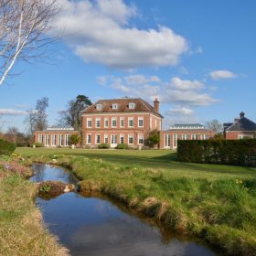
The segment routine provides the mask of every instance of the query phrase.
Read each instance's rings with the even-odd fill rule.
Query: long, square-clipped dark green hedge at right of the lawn
[[[178,141],[181,162],[256,166],[256,139]]]

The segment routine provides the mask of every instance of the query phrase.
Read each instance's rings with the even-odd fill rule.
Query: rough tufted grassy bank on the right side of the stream
[[[50,162],[52,157],[34,160]],[[54,157],[54,162],[69,166],[80,177],[81,190],[101,191],[117,198],[129,208],[161,220],[168,229],[208,240],[229,255],[256,255],[253,174],[235,176],[227,172],[212,178],[205,171],[203,177],[199,176],[199,170],[197,175],[187,175],[164,168],[113,165],[84,156]],[[255,169],[248,172],[255,173]]]

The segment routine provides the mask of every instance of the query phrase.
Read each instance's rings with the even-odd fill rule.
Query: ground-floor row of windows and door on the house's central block
[[[101,134],[96,134],[94,137],[94,142],[95,144],[134,144],[134,135],[128,134],[128,140],[126,142],[124,139],[124,134],[120,134],[119,140],[117,134],[111,134],[110,136],[108,134],[104,134],[103,141],[101,141]],[[92,144],[91,134],[87,134],[86,144]],[[144,134],[138,134],[138,144],[144,144]]]

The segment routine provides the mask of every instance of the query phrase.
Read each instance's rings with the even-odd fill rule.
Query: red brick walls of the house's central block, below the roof
[[[106,119],[108,120],[108,127],[105,125]],[[116,120],[116,127],[112,126],[113,119]],[[123,126],[121,125],[122,120]],[[133,120],[133,126],[130,125],[131,122],[129,121],[131,120]],[[140,127],[139,120],[143,120],[143,127]],[[114,147],[116,144],[123,142],[132,147],[137,147],[144,144],[144,140],[151,130],[157,129],[160,131],[161,125],[161,118],[149,112],[87,113],[82,115],[82,144],[84,146],[96,146],[97,144],[108,143]]]

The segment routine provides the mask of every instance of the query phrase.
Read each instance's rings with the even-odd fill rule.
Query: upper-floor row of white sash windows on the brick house
[[[112,128],[117,128],[117,117],[111,118],[111,123],[109,123],[109,118],[105,117],[103,120],[104,128],[109,128],[110,124]],[[120,118],[120,127],[124,127],[124,117]],[[128,127],[134,127],[134,118],[128,117]],[[138,127],[144,127],[144,118],[138,117]],[[92,128],[92,119],[87,118],[87,128]],[[95,119],[95,128],[101,128],[101,117]]]

